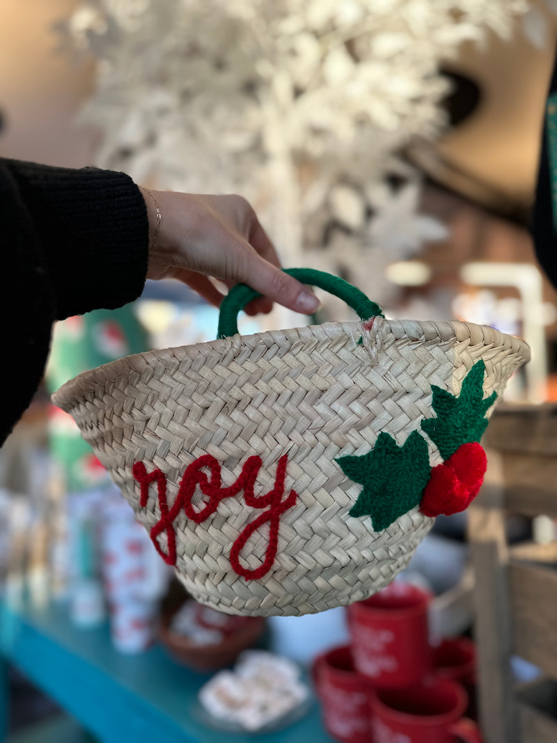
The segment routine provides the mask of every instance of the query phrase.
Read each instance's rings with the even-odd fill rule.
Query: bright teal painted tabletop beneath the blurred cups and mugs
[[[330,743],[319,707],[273,733],[223,733],[201,719],[209,675],[178,666],[160,646],[116,652],[108,627],[76,629],[59,606],[0,606],[0,652],[102,743]],[[62,741],[60,743],[63,743]]]

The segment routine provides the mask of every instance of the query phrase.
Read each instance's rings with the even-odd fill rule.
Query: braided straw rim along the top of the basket
[[[522,357],[522,364],[530,360],[530,346],[521,338],[503,333],[489,325],[477,325],[474,322],[460,320],[414,320],[414,319],[383,319],[376,318],[381,323],[383,331],[391,332],[396,340],[407,337],[415,341],[434,341],[440,343],[464,343],[471,341],[475,345],[499,345],[502,351],[509,351]],[[377,326],[376,326],[377,327]],[[362,321],[325,322],[321,325],[304,325],[302,328],[287,330],[269,330],[251,335],[236,334],[218,340],[204,341],[191,345],[179,345],[171,348],[154,348],[152,351],[143,351],[140,354],[131,354],[121,359],[97,366],[88,371],[82,371],[68,382],[65,382],[51,395],[52,402],[69,412],[76,405],[76,401],[85,398],[85,395],[96,392],[99,386],[108,382],[115,382],[119,377],[127,377],[133,371],[139,371],[146,365],[155,366],[159,363],[169,363],[171,360],[180,360],[187,356],[199,356],[218,353],[224,358],[232,351],[233,357],[238,355],[242,348],[253,347],[258,343],[266,345],[287,345],[300,341],[334,340],[342,334],[354,339],[356,335],[366,333],[362,331]]]

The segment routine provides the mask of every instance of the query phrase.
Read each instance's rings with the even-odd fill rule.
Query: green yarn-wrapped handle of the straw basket
[[[339,279],[338,276],[333,276],[332,273],[318,271],[314,268],[286,268],[284,273],[288,273],[303,284],[317,286],[338,296],[339,299],[343,299],[362,320],[371,317],[384,317],[379,305],[368,299],[355,286],[344,279]],[[229,291],[221,303],[221,312],[218,317],[218,338],[227,338],[238,333],[238,312],[258,296],[261,296],[261,294],[246,284],[237,284]]]

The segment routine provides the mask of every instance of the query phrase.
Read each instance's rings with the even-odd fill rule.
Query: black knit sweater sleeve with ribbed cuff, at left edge
[[[128,175],[0,158],[0,236],[2,444],[39,385],[53,320],[140,295],[149,222]]]

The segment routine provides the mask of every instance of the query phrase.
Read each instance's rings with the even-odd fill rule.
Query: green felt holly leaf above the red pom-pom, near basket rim
[[[486,366],[478,361],[463,379],[460,395],[431,385],[432,408],[437,418],[422,421],[422,428],[437,446],[444,460],[455,453],[461,444],[480,441],[487,426],[486,411],[495,403],[497,394],[483,398],[483,377]]]

